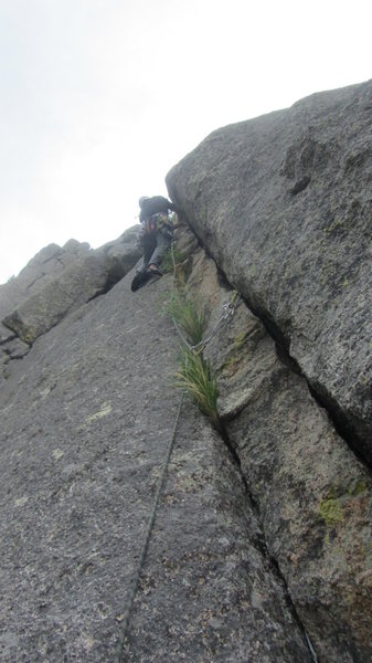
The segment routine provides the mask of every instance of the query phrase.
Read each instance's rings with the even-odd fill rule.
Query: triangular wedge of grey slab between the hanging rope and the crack
[[[159,660],[159,642],[161,660],[191,660],[192,638],[193,657],[200,660],[243,662],[256,654],[258,660],[266,655],[273,661],[310,661],[283,580],[257,543],[261,538],[231,453],[189,404],[180,421],[125,660]],[[151,632],[156,614],[163,615],[163,623]]]

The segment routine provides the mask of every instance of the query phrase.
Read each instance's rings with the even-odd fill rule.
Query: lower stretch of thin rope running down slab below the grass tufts
[[[183,393],[182,393],[180,402],[179,402],[179,407],[178,407],[178,411],[177,411],[176,420],[174,420],[174,425],[173,425],[173,430],[172,430],[172,434],[171,434],[171,438],[170,438],[170,441],[169,441],[169,444],[168,444],[167,454],[166,454],[166,457],[164,457],[164,461],[163,461],[163,465],[162,465],[162,471],[161,471],[161,474],[160,474],[160,477],[159,477],[159,481],[158,481],[158,487],[157,487],[157,492],[156,492],[156,496],[155,496],[155,501],[153,501],[153,506],[152,506],[152,511],[151,511],[151,514],[150,514],[150,517],[149,517],[149,520],[148,520],[148,524],[147,524],[145,540],[144,540],[144,544],[142,544],[142,547],[141,547],[141,551],[140,551],[140,555],[139,555],[139,558],[138,558],[136,573],[135,573],[135,576],[132,578],[132,581],[131,581],[131,588],[130,588],[130,592],[129,592],[129,599],[128,599],[127,608],[126,608],[126,611],[124,613],[124,619],[123,619],[123,622],[121,622],[121,635],[120,635],[119,643],[117,645],[116,663],[124,663],[124,648],[125,648],[126,640],[127,640],[127,633],[128,633],[128,627],[129,627],[131,610],[132,610],[135,598],[136,598],[136,594],[137,594],[140,576],[141,576],[141,572],[142,572],[142,568],[144,568],[146,555],[147,555],[147,549],[149,547],[149,541],[150,541],[150,538],[151,538],[152,527],[153,527],[155,518],[156,518],[156,515],[157,515],[157,509],[158,509],[158,504],[159,504],[160,495],[162,493],[162,488],[163,488],[164,481],[166,481],[166,475],[167,475],[167,471],[168,471],[169,461],[171,459],[173,446],[174,446],[174,442],[176,442],[177,427],[178,427],[178,422],[179,422],[180,414],[181,414],[182,403],[183,403]]]

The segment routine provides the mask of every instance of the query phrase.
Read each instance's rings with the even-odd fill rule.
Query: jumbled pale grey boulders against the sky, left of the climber
[[[68,313],[103,294],[131,270],[140,256],[138,228],[97,250],[70,240],[62,249],[50,244],[17,278],[0,286],[0,347],[3,362],[8,341],[18,336],[32,345]]]

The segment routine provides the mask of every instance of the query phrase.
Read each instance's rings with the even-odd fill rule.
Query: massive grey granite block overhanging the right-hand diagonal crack
[[[372,82],[211,134],[168,175],[219,267],[372,462]]]

